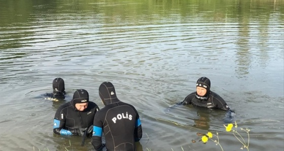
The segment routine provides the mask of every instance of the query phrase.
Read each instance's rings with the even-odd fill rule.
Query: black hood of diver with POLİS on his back
[[[98,89],[99,97],[104,105],[119,102],[116,96],[115,87],[111,82],[103,82]]]

